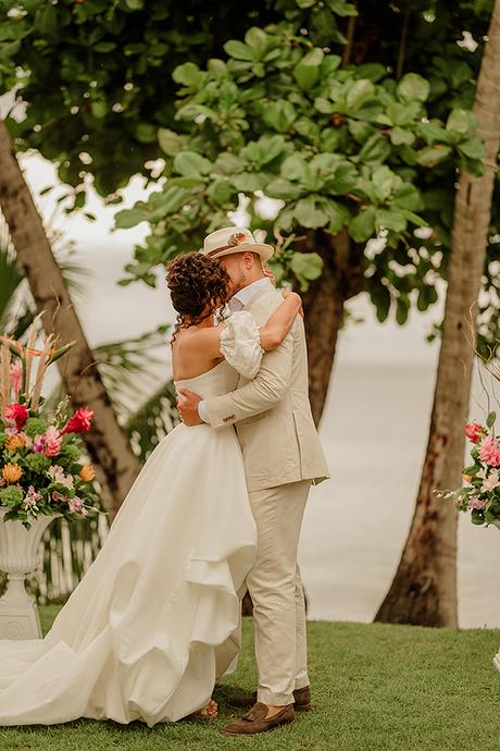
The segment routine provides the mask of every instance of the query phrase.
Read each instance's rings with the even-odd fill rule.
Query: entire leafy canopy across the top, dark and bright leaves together
[[[40,149],[78,186],[83,208],[86,176],[116,202],[132,174],[149,177],[150,160],[164,159],[167,183],[117,216],[152,229],[123,284],[154,285],[152,267],[199,247],[245,194],[252,225],[279,241],[282,278],[304,288],[320,261],[292,264],[292,253],[347,230],[350,279],[364,276],[379,320],[402,322],[446,279],[457,171],[480,171],[471,108],[492,2],[414,0],[402,48],[407,8],[367,0],[358,15],[346,0],[261,0],[214,15],[195,0],[147,11],[140,0],[7,0],[0,83],[27,102],[25,121],[7,122],[17,148]],[[275,219],[260,217],[255,192],[285,201]],[[497,186],[482,352],[500,337],[498,207]],[[385,245],[365,250],[377,235]],[[347,284],[346,296],[359,291]]]

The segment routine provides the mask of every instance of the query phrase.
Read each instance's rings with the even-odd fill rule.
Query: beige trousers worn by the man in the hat
[[[251,492],[257,557],[247,577],[253,601],[258,701],[293,702],[293,689],[309,685],[305,606],[297,563],[310,480]]]

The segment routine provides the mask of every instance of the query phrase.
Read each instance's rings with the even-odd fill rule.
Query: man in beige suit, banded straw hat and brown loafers
[[[283,303],[263,269],[274,250],[255,243],[249,230],[212,232],[200,253],[226,269],[234,293],[230,312],[249,310],[262,325]],[[302,318],[297,316],[277,349],[264,354],[253,381],[241,376],[236,391],[207,401],[179,392],[185,424],[235,424],[241,445],[258,532],[247,587],[253,601],[259,688],[250,712],[224,732],[255,735],[292,722],[295,709],[309,710],[311,702],[297,547],[310,487],[325,480],[328,470],[309,404]]]

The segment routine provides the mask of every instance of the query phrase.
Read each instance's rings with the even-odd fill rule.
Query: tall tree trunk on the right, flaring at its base
[[[410,533],[392,584],[375,617],[386,623],[457,626],[458,515],[433,490],[459,485],[463,466],[477,296],[500,139],[500,0],[496,0],[487,39],[474,104],[477,134],[486,143],[485,173],[472,177],[462,172],[459,181],[427,453]],[[471,329],[473,342],[467,341]]]

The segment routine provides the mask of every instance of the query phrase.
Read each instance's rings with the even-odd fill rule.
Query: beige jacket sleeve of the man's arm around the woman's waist
[[[291,382],[293,354],[293,325],[277,349],[262,357],[253,381],[236,391],[205,401],[205,410],[212,428],[239,422],[274,407]]]

